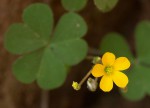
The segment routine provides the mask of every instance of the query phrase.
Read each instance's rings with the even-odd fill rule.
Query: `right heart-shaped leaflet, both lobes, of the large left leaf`
[[[86,32],[87,25],[81,16],[65,14],[55,28],[50,47],[64,63],[77,64],[86,56],[87,44],[80,39]]]

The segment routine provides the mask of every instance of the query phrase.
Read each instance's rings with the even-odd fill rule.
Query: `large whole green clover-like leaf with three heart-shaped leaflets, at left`
[[[67,75],[66,67],[79,63],[87,53],[87,44],[81,39],[87,25],[81,16],[64,14],[50,34],[52,19],[47,5],[31,5],[23,14],[25,24],[12,25],[5,38],[10,52],[24,54],[13,65],[16,78],[27,84],[37,80],[43,89],[61,86]]]

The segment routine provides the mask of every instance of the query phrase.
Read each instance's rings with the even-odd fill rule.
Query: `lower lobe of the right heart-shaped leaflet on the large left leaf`
[[[51,49],[56,56],[67,65],[78,64],[87,54],[87,44],[81,39],[52,44]]]

